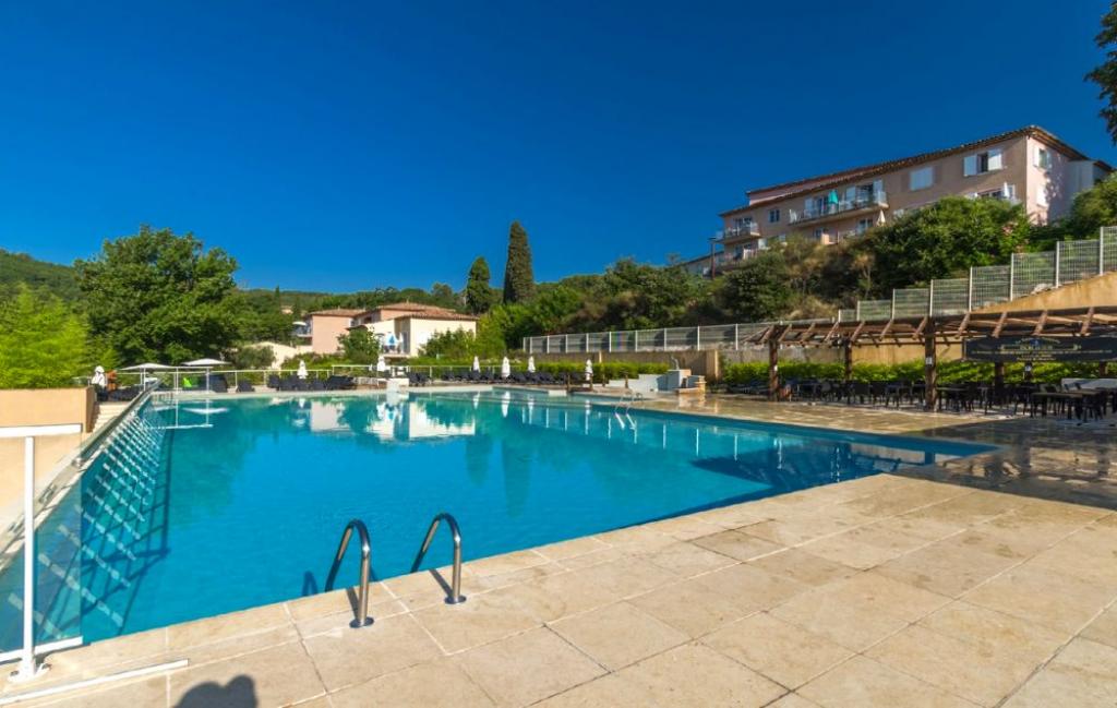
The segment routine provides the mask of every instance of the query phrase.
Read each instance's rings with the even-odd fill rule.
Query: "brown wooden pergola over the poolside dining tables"
[[[779,388],[780,347],[840,346],[844,352],[846,380],[852,375],[852,348],[856,345],[899,346],[923,343],[927,410],[936,403],[938,355],[936,345],[956,344],[975,337],[1090,337],[1117,334],[1117,305],[1067,309],[1018,310],[999,313],[965,312],[923,317],[896,317],[879,320],[834,323],[775,323],[750,336],[751,344],[768,345],[768,391]],[[1105,374],[1106,363],[1099,363]],[[996,383],[1004,377],[1004,363],[994,364]]]

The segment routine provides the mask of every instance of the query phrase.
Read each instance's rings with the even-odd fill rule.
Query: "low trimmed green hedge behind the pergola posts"
[[[767,363],[750,362],[746,364],[729,364],[725,367],[726,383],[748,383],[767,381]],[[922,381],[923,362],[905,362],[903,364],[856,364],[853,381]],[[1096,363],[1073,364],[1035,364],[1032,369],[1032,381],[1038,383],[1059,383],[1065,377],[1091,379],[1098,375]],[[831,379],[844,377],[842,364],[818,364],[808,362],[780,362],[780,376],[790,379]],[[976,362],[939,362],[939,383],[960,381],[992,381],[993,364]],[[1008,364],[1004,367],[1004,380],[1008,383],[1019,383],[1024,380],[1023,364]]]

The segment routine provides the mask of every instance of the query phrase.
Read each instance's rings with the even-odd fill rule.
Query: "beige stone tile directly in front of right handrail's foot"
[[[540,621],[521,605],[509,589],[470,597],[462,604],[438,604],[411,613],[442,650],[454,653],[537,626]]]

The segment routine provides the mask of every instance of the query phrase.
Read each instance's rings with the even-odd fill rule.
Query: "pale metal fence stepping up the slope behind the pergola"
[[[892,290],[890,299],[859,300],[857,307],[839,309],[836,316],[839,322],[850,322],[957,314],[1115,270],[1117,227],[1102,227],[1096,239],[1062,241],[1053,251],[1013,253],[1006,266],[977,266],[970,269],[967,278],[946,278],[933,280],[927,288]],[[821,326],[834,319],[795,322]],[[557,334],[525,337],[524,350],[531,354],[733,350],[747,345],[751,337],[773,324],[779,323]]]

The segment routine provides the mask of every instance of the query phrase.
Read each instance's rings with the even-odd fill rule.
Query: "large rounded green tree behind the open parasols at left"
[[[237,261],[193,235],[144,226],[75,266],[94,334],[127,363],[217,356],[237,341]]]

